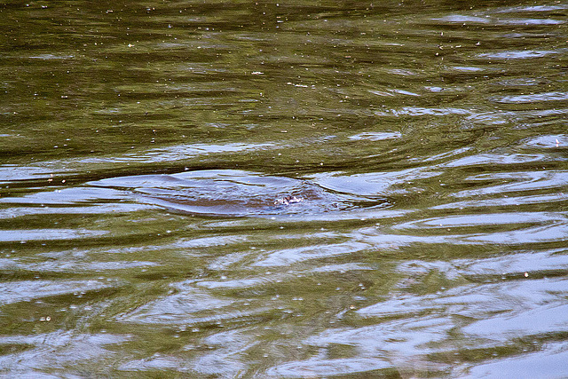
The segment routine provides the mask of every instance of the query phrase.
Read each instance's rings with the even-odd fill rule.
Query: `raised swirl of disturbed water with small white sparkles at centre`
[[[362,199],[308,180],[244,170],[196,170],[171,175],[108,178],[91,186],[130,191],[138,201],[206,215],[254,216],[321,213],[360,208]],[[374,205],[384,202],[371,201]]]

